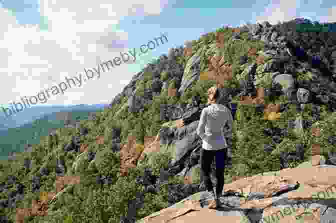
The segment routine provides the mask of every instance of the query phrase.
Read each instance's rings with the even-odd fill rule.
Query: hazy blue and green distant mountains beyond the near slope
[[[28,144],[38,144],[40,137],[53,129],[88,119],[91,113],[106,106],[108,104],[35,106],[29,112],[8,117],[0,124],[0,159],[7,159],[12,152],[24,151]]]

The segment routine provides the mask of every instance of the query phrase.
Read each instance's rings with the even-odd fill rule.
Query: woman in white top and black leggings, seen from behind
[[[210,87],[207,93],[210,105],[202,110],[196,132],[203,140],[200,151],[200,167],[203,180],[207,191],[211,193],[218,207],[219,197],[224,186],[224,167],[229,146],[227,139],[232,137],[233,118],[229,108],[217,103],[219,90],[216,86]],[[216,159],[217,185],[215,193],[210,179],[213,157]]]

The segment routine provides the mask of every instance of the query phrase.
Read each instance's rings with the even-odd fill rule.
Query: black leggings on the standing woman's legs
[[[212,191],[213,186],[210,178],[211,164],[213,156],[216,158],[216,194],[221,194],[224,187],[224,168],[225,160],[227,156],[227,148],[222,148],[219,150],[206,150],[201,148],[200,150],[200,169],[201,175],[204,180],[207,191]]]

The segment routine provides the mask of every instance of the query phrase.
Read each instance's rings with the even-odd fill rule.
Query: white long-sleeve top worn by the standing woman
[[[227,147],[226,138],[232,138],[233,118],[229,108],[211,104],[203,108],[196,133],[203,140],[202,147],[218,150]]]

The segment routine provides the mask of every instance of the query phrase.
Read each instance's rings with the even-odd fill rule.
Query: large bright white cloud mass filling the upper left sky
[[[0,48],[0,103],[36,95],[63,81],[64,76],[72,77],[99,61],[112,59],[120,51],[128,51],[127,47],[134,46],[127,45],[127,32],[115,25],[134,13],[158,14],[166,2],[40,0],[39,11],[47,17],[48,31],[40,31],[38,25],[18,24],[10,11],[0,8],[0,45],[5,46]],[[134,12],[134,7],[140,10]],[[132,75],[127,64],[121,63],[101,73],[99,79],[86,81],[83,87],[51,96],[47,103],[109,103],[123,87],[120,79],[131,79]],[[113,84],[113,88],[107,84]]]

